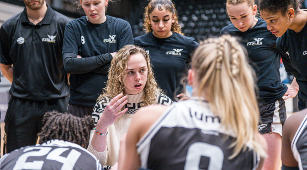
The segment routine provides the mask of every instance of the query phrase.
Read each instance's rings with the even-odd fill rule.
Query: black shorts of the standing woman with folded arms
[[[94,107],[68,104],[67,113],[77,117],[92,116]]]

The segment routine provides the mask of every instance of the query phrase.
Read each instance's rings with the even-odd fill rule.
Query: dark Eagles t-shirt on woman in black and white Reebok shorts
[[[230,34],[239,38],[239,42],[247,49],[250,65],[258,78],[259,105],[274,103],[287,91],[287,86],[280,80],[280,57],[276,49],[276,36],[266,28],[266,22],[258,18],[253,28],[245,32],[229,24],[222,29],[220,35]]]

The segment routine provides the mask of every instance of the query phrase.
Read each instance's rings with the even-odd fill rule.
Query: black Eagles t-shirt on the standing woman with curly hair
[[[153,33],[134,38],[134,43],[146,50],[153,65],[153,71],[159,87],[173,101],[174,96],[183,93],[180,81],[186,76],[191,53],[199,44],[194,38],[173,32],[168,38],[157,38]]]

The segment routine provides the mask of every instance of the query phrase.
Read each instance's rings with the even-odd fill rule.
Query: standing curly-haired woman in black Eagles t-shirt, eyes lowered
[[[178,22],[175,5],[171,0],[151,0],[145,8],[144,29],[134,43],[150,55],[158,85],[175,100],[185,90],[180,80],[185,76],[190,54],[199,44],[184,36]]]

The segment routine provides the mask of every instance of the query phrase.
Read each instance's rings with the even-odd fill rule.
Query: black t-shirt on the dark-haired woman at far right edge
[[[307,102],[307,24],[300,32],[288,29],[277,39],[277,49],[286,71],[292,73],[299,86],[298,109],[306,108]]]

